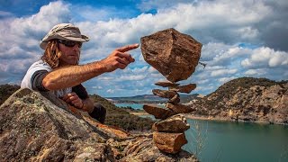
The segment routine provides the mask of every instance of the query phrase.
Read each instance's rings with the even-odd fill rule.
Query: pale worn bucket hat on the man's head
[[[82,35],[79,28],[71,23],[59,23],[55,25],[47,35],[40,41],[40,48],[46,49],[49,40],[74,40],[74,41],[88,41],[89,38]]]

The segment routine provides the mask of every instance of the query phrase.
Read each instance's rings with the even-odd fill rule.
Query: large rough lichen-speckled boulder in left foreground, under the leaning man
[[[101,130],[94,133],[67,105],[31,90],[17,91],[0,107],[0,161],[113,160]],[[100,134],[103,134],[100,135]]]

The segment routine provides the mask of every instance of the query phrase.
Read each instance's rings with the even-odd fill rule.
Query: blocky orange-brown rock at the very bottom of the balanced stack
[[[184,133],[153,132],[153,140],[160,150],[175,154],[187,143]]]

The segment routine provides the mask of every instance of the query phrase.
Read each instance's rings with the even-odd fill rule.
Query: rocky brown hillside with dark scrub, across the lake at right
[[[288,124],[288,81],[241,77],[221,85],[192,106],[193,114],[229,121]]]

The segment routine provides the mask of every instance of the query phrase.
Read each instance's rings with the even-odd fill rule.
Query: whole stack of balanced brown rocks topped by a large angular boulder
[[[166,108],[144,104],[143,109],[161,119],[153,124],[153,140],[157,148],[175,154],[187,143],[184,131],[190,128],[183,114],[193,112],[189,106],[180,103],[178,93],[190,94],[195,84],[180,85],[176,82],[191,76],[198,65],[202,44],[191,36],[175,29],[157,31],[141,38],[142,55],[148,64],[156,68],[168,81],[155,85],[168,90],[153,89],[153,94],[167,98]]]

